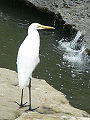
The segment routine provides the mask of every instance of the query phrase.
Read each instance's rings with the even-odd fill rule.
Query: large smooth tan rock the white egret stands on
[[[1,120],[63,120],[66,117],[89,117],[82,110],[76,109],[69,104],[65,95],[55,90],[45,80],[32,79],[32,108],[40,106],[37,112],[24,113],[28,107],[19,109],[15,103],[20,103],[20,88],[18,86],[17,73],[8,69],[0,69],[0,119]],[[24,102],[28,102],[28,87],[24,90]],[[29,102],[28,102],[29,103]],[[23,114],[22,114],[23,113]],[[22,114],[21,117],[19,117]],[[18,118],[19,117],[19,118]],[[35,118],[35,119],[34,119]],[[50,118],[50,119],[49,119]],[[64,119],[65,120],[65,119]]]

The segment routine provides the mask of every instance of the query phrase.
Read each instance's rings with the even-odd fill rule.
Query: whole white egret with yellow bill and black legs
[[[23,89],[26,85],[29,86],[29,110],[31,109],[31,79],[32,72],[34,71],[37,64],[40,62],[39,59],[39,48],[40,48],[40,36],[39,29],[54,29],[54,27],[44,26],[38,23],[32,23],[28,28],[28,35],[21,44],[18,50],[17,56],[17,70],[18,70],[18,80],[19,86],[22,89],[21,104],[23,107]],[[38,107],[37,107],[38,108]]]

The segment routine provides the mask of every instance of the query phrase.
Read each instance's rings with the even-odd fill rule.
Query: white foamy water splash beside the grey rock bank
[[[77,32],[75,38],[70,42],[65,42],[64,39],[60,40],[58,48],[64,51],[63,59],[65,61],[82,70],[87,67],[86,65],[88,64],[89,58],[85,51],[80,31]]]

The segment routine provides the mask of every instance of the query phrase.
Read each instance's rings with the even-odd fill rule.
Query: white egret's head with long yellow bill
[[[39,23],[32,23],[28,30],[40,30],[40,29],[55,29],[54,27],[50,27],[50,26],[45,26],[45,25],[41,25]]]

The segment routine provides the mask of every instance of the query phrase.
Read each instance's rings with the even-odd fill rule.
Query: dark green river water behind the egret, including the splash
[[[31,23],[54,26],[54,20],[28,4],[1,0],[0,67],[16,70],[17,51]],[[45,79],[63,92],[71,105],[90,114],[90,58],[82,44],[81,32],[67,35],[62,25],[57,27],[40,31],[40,64],[33,77]]]

